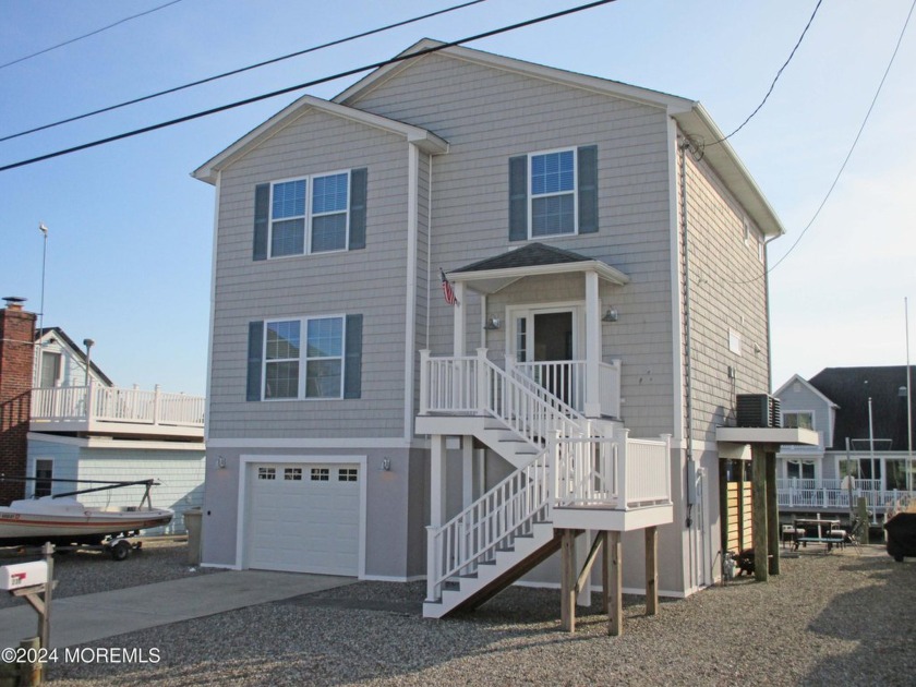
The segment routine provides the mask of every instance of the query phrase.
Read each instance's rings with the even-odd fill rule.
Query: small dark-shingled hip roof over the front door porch
[[[459,267],[449,272],[448,277],[474,291],[490,294],[525,277],[590,272],[610,284],[629,284],[627,275],[606,263],[537,242]]]

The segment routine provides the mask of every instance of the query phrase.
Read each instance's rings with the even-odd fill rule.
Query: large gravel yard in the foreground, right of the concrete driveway
[[[117,565],[117,564],[116,564]],[[116,567],[116,566],[112,566]],[[559,593],[511,588],[445,620],[419,615],[422,583],[359,582],[103,640],[157,663],[58,663],[65,685],[913,685],[916,561],[880,546],[784,558],[646,617],[624,635],[596,606],[559,631]],[[595,595],[596,596],[596,595]],[[153,652],[153,650],[156,652]]]

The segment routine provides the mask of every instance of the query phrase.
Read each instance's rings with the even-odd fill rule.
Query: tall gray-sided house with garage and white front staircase
[[[718,569],[715,429],[770,385],[780,221],[698,103],[439,48],[194,172],[204,561],[425,578],[443,615],[606,534],[624,589],[651,547],[689,594]]]

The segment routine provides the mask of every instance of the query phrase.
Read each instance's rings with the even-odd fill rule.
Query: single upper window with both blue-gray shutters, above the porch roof
[[[598,230],[598,146],[509,158],[509,241]]]

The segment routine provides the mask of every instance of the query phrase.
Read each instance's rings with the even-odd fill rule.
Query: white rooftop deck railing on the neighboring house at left
[[[32,389],[32,422],[204,426],[204,397],[109,386]]]

